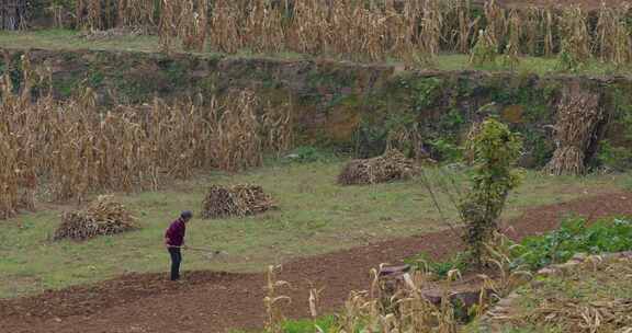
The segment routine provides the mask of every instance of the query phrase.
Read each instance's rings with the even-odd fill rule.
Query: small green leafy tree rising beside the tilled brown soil
[[[465,242],[473,260],[479,265],[485,243],[498,229],[497,221],[507,196],[522,179],[515,169],[522,140],[507,125],[488,118],[474,130],[466,148],[473,173],[470,192],[461,199],[459,211],[465,222]]]

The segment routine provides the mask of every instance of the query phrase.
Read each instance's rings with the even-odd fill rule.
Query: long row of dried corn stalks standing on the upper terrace
[[[154,13],[154,14],[148,14]],[[574,68],[595,57],[632,61],[630,5],[520,7],[495,0],[228,1],[81,0],[59,25],[87,31],[113,27],[157,33],[163,51],[235,54],[242,49],[336,56],[354,61],[397,60],[428,66],[440,54],[466,54],[471,64],[520,56],[557,56]]]

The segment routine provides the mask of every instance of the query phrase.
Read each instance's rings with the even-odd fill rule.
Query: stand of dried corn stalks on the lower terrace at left
[[[0,218],[33,209],[36,195],[82,202],[103,191],[156,190],[195,170],[256,166],[264,151],[291,145],[291,108],[252,91],[110,110],[99,108],[89,89],[34,102],[32,88],[49,87],[49,73],[37,73],[26,56],[22,64],[23,87],[1,78]]]

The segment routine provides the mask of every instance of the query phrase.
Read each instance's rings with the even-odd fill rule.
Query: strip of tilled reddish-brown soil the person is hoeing
[[[562,215],[568,213],[592,218],[632,215],[632,194],[610,193],[529,209],[510,222],[511,236],[521,238],[555,228]],[[286,313],[308,315],[312,285],[326,287],[321,306],[334,310],[350,290],[369,286],[369,271],[380,263],[396,263],[420,251],[442,257],[458,248],[458,239],[443,231],[287,263],[279,276],[292,286],[285,292],[293,299]],[[0,301],[0,331],[210,333],[257,329],[264,320],[264,284],[263,274],[195,272],[188,274],[182,284],[168,283],[165,275],[127,275],[99,285]]]

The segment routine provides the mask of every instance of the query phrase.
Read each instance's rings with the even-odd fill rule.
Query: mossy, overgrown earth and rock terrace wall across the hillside
[[[0,70],[20,83],[24,50],[4,49]],[[29,51],[50,67],[55,96],[93,88],[102,105],[146,103],[160,96],[221,95],[250,88],[273,105],[291,103],[298,145],[381,153],[395,128],[416,125],[433,157],[450,159],[472,122],[496,115],[522,133],[522,164],[541,166],[555,148],[550,125],[564,87],[599,92],[609,115],[595,162],[632,164],[632,78],[483,71],[409,71],[397,66],[320,60],[95,51]],[[10,62],[10,64],[7,64]],[[489,103],[494,103],[489,105]],[[482,106],[485,106],[481,110]]]

